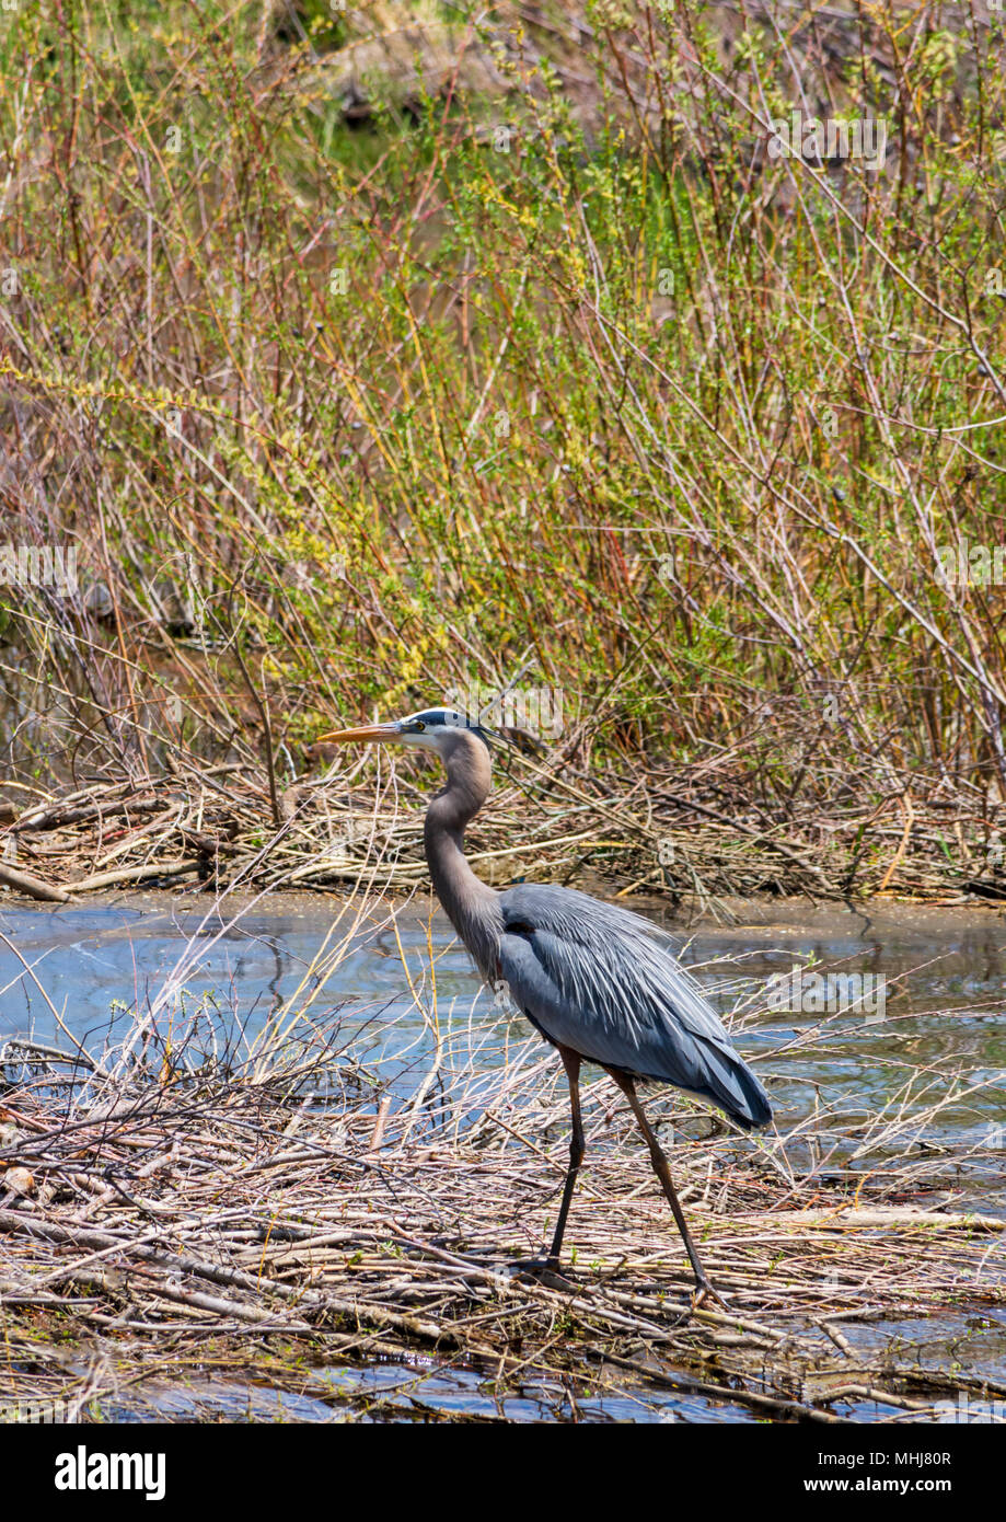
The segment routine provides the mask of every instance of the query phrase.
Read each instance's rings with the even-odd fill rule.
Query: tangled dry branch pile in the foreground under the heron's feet
[[[950,1318],[966,1338],[1006,1304],[1004,1222],[950,1196],[931,1208],[953,1158],[866,1181],[834,1166],[797,1177],[782,1138],[741,1146],[717,1125],[685,1140],[682,1100],[662,1100],[682,1201],[731,1301],[696,1307],[603,1082],[587,1090],[574,1259],[556,1280],[519,1266],[548,1236],[566,1161],[565,1097],[540,1049],[510,1053],[489,1087],[426,1082],[408,1099],[374,1088],[345,1052],[286,1052],[279,1068],[224,1075],[151,1049],[114,1076],[29,1046],[12,1073],[6,1053],[18,1079],[0,1111],[12,1399],[87,1417],[224,1374],[359,1414],[332,1368],[376,1355],[473,1371],[501,1409],[559,1382],[574,1420],[627,1383],[641,1414],[673,1394],[819,1422],[866,1408],[931,1420],[939,1400],[1006,1394],[950,1362],[927,1368],[883,1332]],[[408,1394],[364,1409],[437,1414]]]

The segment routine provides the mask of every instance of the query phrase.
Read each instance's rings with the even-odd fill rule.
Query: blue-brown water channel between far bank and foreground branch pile
[[[639,906],[662,921],[656,909]],[[989,1093],[950,1105],[913,1134],[919,1143],[979,1143],[1006,1149],[1006,919],[995,912],[913,910],[855,913],[787,901],[737,906],[744,922],[692,928],[667,922],[721,1014],[738,1000],[753,1018],[737,1044],[749,1058],[779,1052],[770,1064],[773,1100],[788,1119],[811,1102],[814,1085],[851,1116],[880,1110],[904,1079],[904,1064],[959,1062],[971,1082]],[[349,954],[327,976],[310,971],[333,912],[317,896],[277,896],[227,921],[207,918],[198,903],[146,895],[129,903],[81,907],[5,907],[0,903],[0,1046],[32,1032],[35,1040],[68,1043],[52,1006],[88,1050],[99,1053],[132,1029],[135,1011],[202,1011],[218,1049],[239,1049],[265,1030],[283,1001],[303,983],[320,1021],[339,1021],[341,1046],[353,1052],[400,1094],[408,1094],[434,1046],[432,1027],[409,991],[399,945],[387,927],[362,925]],[[513,1011],[496,1012],[481,989],[467,953],[440,913],[432,922],[419,907],[397,915],[397,935],[414,980],[425,977],[428,931],[437,977],[437,1015],[450,1032],[455,1059],[478,1075],[504,1061],[528,1036]],[[164,998],[183,953],[190,965]],[[776,974],[796,965],[869,974],[886,980],[886,1008],[837,1011],[826,1017],[810,1053],[785,1052],[794,1032],[825,1020],[766,1008]],[[29,971],[30,968],[30,971]],[[46,997],[37,982],[43,985]],[[807,997],[805,997],[807,1003]],[[470,1023],[475,1023],[475,1030]],[[764,1071],[764,1068],[759,1068]],[[14,1076],[14,1073],[9,1073]],[[931,1096],[928,1096],[931,1099]],[[909,1114],[912,1113],[909,1105]],[[922,1108],[921,1105],[916,1108]],[[907,1140],[903,1138],[903,1140]]]

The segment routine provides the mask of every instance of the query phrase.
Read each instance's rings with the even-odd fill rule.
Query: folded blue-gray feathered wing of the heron
[[[770,1120],[766,1091],[654,925],[565,887],[521,884],[499,906],[501,976],[551,1041],[700,1094],[743,1126]]]

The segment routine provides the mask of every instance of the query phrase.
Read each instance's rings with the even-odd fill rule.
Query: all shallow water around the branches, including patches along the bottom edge
[[[333,901],[338,903],[338,901]],[[236,906],[240,907],[240,906]],[[661,919],[659,909],[639,906]],[[682,960],[705,985],[712,1001],[729,1014],[738,1003],[750,1020],[737,1043],[747,1056],[766,1056],[761,1073],[772,1076],[773,1103],[784,1126],[791,1125],[823,1094],[832,1116],[854,1122],[864,1108],[877,1111],[904,1084],[909,1068],[939,1064],[939,1084],[960,1068],[966,1082],[985,1079],[982,1093],[945,1105],[918,1122],[913,1116],[931,1105],[933,1091],[909,1099],[904,1123],[893,1138],[845,1151],[846,1166],[893,1166],[925,1149],[962,1145],[977,1148],[968,1166],[954,1166],[936,1186],[963,1190],[974,1208],[1004,1213],[1001,1158],[1006,1155],[1006,919],[988,909],[974,912],[886,907],[857,913],[846,907],[811,907],[799,903],[735,904],[738,922],[724,927],[699,921],[691,928],[668,924],[680,942]],[[428,1068],[434,1046],[431,1001],[426,1015],[417,1008],[396,936],[387,925],[364,924],[349,954],[323,985],[317,968],[333,907],[318,896],[277,896],[242,907],[236,924],[205,919],[198,896],[140,895],[128,901],[81,907],[18,907],[0,903],[0,1076],[17,1079],[17,1049],[5,1043],[32,1033],[37,1041],[68,1046],[59,1029],[93,1053],[123,1041],[135,1011],[160,1009],[158,1018],[180,1008],[201,1009],[207,1041],[218,1050],[240,1052],[242,1043],[265,1030],[283,1001],[300,985],[314,995],[312,1014],[339,1027],[339,1044],[368,1070],[390,1082],[397,1094],[411,1093]],[[230,910],[230,915],[234,909]],[[423,980],[431,936],[437,977],[435,1012],[449,1032],[450,1061],[458,1071],[489,1076],[525,1043],[524,1020],[496,1009],[479,988],[467,954],[454,942],[440,915],[428,922],[419,901],[397,915],[397,931],[412,970]],[[178,986],[172,976],[181,954],[190,959]],[[315,966],[315,971],[312,970]],[[851,1009],[822,1015],[766,1008],[773,974],[794,966],[869,973],[886,980],[883,1018]],[[30,973],[27,971],[30,968]],[[40,992],[44,988],[59,1020]],[[166,997],[166,991],[170,997]],[[794,1035],[825,1020],[805,1050],[781,1050]],[[244,1035],[242,1035],[244,1033]],[[536,1049],[537,1050],[537,1049]],[[320,1096],[321,1097],[321,1096]],[[810,1155],[793,1155],[801,1167]],[[939,1170],[936,1170],[936,1175]],[[1006,1318],[974,1326],[948,1317],[942,1321],[895,1326],[858,1326],[851,1339],[874,1345],[896,1338],[913,1348],[921,1367],[957,1364],[973,1374],[1006,1374]],[[193,1420],[415,1420],[423,1412],[463,1412],[476,1419],[670,1422],[750,1420],[741,1408],[679,1393],[657,1394],[626,1387],[624,1399],[592,1397],[589,1387],[574,1393],[528,1383],[514,1397],[498,1399],[492,1380],[472,1370],[435,1362],[374,1362],[367,1368],[327,1370],[324,1380],[335,1406],[315,1388],[310,1396],[205,1383],[198,1390],[166,1391],[160,1419]],[[143,1397],[145,1402],[151,1394]],[[178,1405],[181,1402],[181,1405]],[[155,1406],[129,1406],[119,1419],[151,1419]],[[175,1409],[177,1408],[177,1409]],[[863,1419],[874,1408],[851,1409]],[[157,1420],[157,1414],[152,1415]]]

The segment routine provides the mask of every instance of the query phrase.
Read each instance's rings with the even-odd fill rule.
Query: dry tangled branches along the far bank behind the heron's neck
[[[919,798],[890,767],[890,791],[819,799],[778,814],[752,807],[738,770],[656,763],[638,775],[584,772],[577,729],[552,750],[505,753],[469,837],[498,886],[533,875],[709,906],[752,893],[878,893],[942,904],[1006,898],[1001,810],[977,788]],[[277,785],[253,759],[170,767],[47,791],[0,784],[0,884],[37,900],[129,884],[332,889],[361,880],[403,892],[426,883],[422,810],[437,785],[405,761],[394,790],[367,761]],[[5,807],[5,799],[17,799]]]

